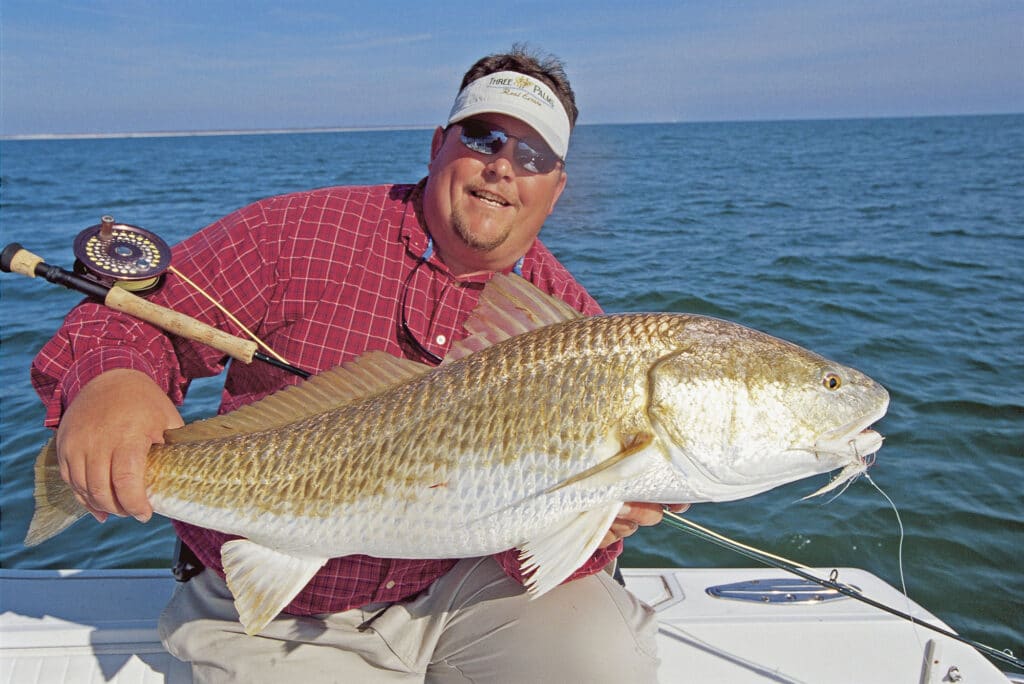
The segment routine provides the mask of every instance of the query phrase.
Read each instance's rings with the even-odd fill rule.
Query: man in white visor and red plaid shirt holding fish
[[[243,208],[174,250],[176,268],[296,366],[319,372],[381,349],[436,364],[496,271],[516,271],[585,313],[599,307],[538,241],[565,186],[577,118],[560,63],[514,48],[466,74],[417,185],[335,187]],[[151,297],[238,333],[175,276]],[[61,474],[103,520],[153,510],[153,443],[182,424],[190,379],[225,359],[104,309],[77,307],[37,356],[33,380],[57,426]],[[221,412],[296,379],[232,364]],[[228,539],[175,522],[207,569],[179,586],[165,645],[198,681],[652,681],[650,610],[601,568],[621,540],[660,519],[627,504],[595,555],[530,601],[517,552],[489,558],[332,559],[257,637],[222,580]]]

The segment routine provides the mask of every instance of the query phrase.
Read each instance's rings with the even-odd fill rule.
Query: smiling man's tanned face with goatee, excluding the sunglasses
[[[543,145],[538,133],[500,114],[472,118]],[[430,175],[423,197],[427,227],[441,260],[456,274],[508,268],[534,243],[565,187],[561,164],[531,173],[513,158],[515,141],[484,155],[460,140],[462,128],[438,128],[430,149]]]

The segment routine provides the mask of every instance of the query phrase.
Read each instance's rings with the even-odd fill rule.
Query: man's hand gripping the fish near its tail
[[[108,514],[145,522],[145,457],[164,430],[182,426],[180,414],[147,375],[127,369],[93,378],[65,412],[57,428],[60,476],[100,522]]]

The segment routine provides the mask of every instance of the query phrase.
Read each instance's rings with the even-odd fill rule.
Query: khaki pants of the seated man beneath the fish
[[[653,611],[604,572],[529,600],[490,558],[461,560],[409,602],[282,614],[255,637],[206,570],[160,619],[164,645],[197,682],[275,684],[654,682],[655,632]]]

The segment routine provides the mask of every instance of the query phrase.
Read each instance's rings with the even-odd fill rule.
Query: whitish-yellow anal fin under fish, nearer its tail
[[[220,559],[239,622],[250,636],[276,617],[328,560],[292,556],[249,540],[225,542]]]

